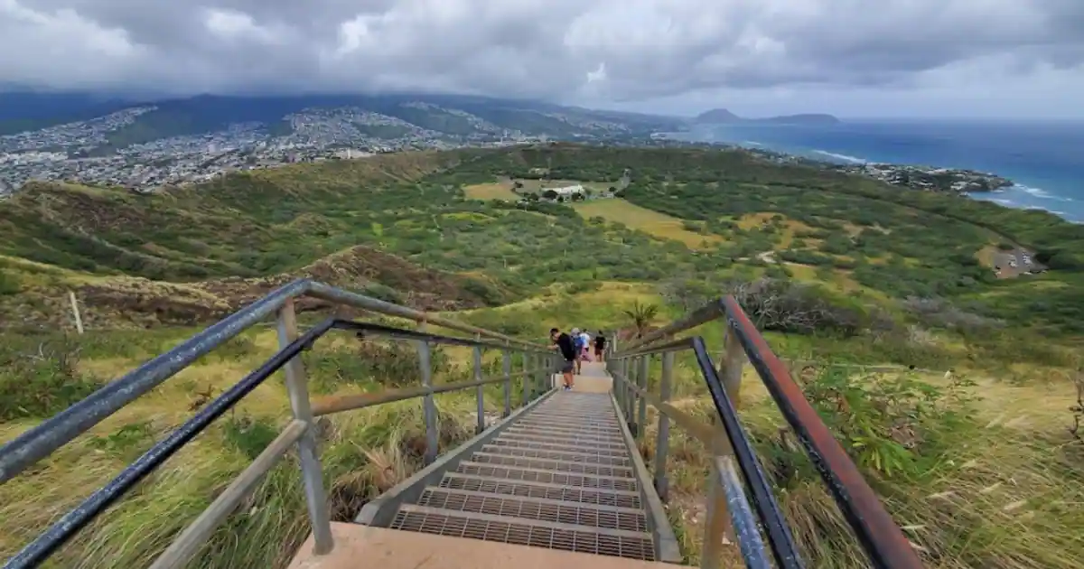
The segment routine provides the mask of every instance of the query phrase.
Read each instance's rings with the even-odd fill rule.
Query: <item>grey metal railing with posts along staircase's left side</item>
[[[305,332],[298,333],[295,299],[301,296],[331,301],[336,305],[360,308],[378,314],[412,320],[418,329],[406,329],[385,324],[356,322],[328,318]],[[555,370],[554,353],[547,346],[513,338],[493,331],[480,328],[455,320],[447,319],[409,307],[386,302],[322,283],[298,280],[288,283],[249,306],[227,316],[203,332],[182,341],[173,349],[143,363],[132,372],[94,391],[83,400],[57,413],[40,425],[27,430],[14,440],[0,447],[0,483],[5,483],[38,461],[49,456],[76,437],[87,432],[108,416],[131,403],[140,396],[158,387],[181,370],[203,355],[211,352],[229,339],[237,336],[258,322],[275,315],[279,349],[267,361],[243,379],[206,403],[180,427],[170,432],[133,463],[127,466],[112,481],[85,499],[14,557],[3,569],[25,569],[38,567],[61,545],[87,527],[96,516],[140,480],[150,475],[167,458],[176,454],[193,438],[207,428],[216,418],[229,411],[246,395],[267,378],[282,370],[286,391],[289,396],[294,418],[279,436],[261,452],[253,463],[222,491],[216,500],[173,540],[158,556],[153,569],[183,567],[199,547],[211,536],[214,530],[256,488],[257,483],[295,445],[300,458],[301,478],[305,484],[309,520],[312,526],[314,553],[324,555],[334,548],[327,497],[323,488],[322,466],[317,453],[315,417],[367,406],[422,398],[426,429],[426,463],[437,458],[438,426],[434,395],[477,389],[477,431],[487,428],[485,415],[485,387],[502,384],[504,387],[504,416],[512,412],[513,355],[515,350],[521,355],[521,370],[515,375],[521,377],[522,397],[520,403],[529,404],[552,389],[547,376]],[[472,334],[473,338],[439,335],[424,332],[427,325]],[[300,353],[310,349],[319,338],[333,329],[353,332],[364,336],[386,337],[392,340],[409,340],[417,346],[418,372],[422,385],[403,389],[387,389],[375,393],[346,395],[311,401]],[[486,338],[486,339],[482,339]],[[430,345],[454,345],[473,348],[474,379],[453,384],[433,383]],[[494,377],[482,377],[482,351],[502,352],[502,373]]]

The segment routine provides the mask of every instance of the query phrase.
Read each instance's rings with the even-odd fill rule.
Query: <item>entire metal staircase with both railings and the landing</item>
[[[295,302],[300,297],[380,313],[399,319],[400,324],[328,318],[302,332]],[[757,569],[801,569],[804,560],[772,482],[737,418],[746,361],[812,458],[872,566],[921,567],[901,529],[733,297],[622,346],[609,354],[605,366],[585,363],[576,388],[564,391],[555,389],[553,372],[558,362],[549,346],[321,283],[295,281],[0,447],[0,484],[20,475],[33,476],[30,467],[40,460],[245,328],[271,318],[280,344],[273,355],[33,539],[3,568],[29,569],[47,562],[215,419],[282,372],[293,419],[158,552],[152,569],[198,564],[216,529],[243,507],[246,496],[284,456],[292,456],[299,467],[312,528],[291,569],[657,569],[681,562],[683,556],[660,500],[669,488],[671,423],[682,436],[702,443],[710,457],[700,567],[720,569],[723,564],[741,562]],[[686,335],[717,322],[725,331],[718,368],[704,339]],[[428,331],[434,327],[449,334]],[[311,400],[299,355],[335,331],[414,344],[420,380],[403,388]],[[470,348],[473,379],[436,383],[430,361],[434,345]],[[486,351],[500,355],[498,375],[483,377]],[[682,351],[692,355],[710,392],[714,413],[709,422],[669,403],[674,357]],[[660,364],[657,376],[654,362]],[[487,386],[494,390],[500,386],[503,396],[503,418],[493,425],[486,421]],[[465,390],[476,393],[477,435],[441,455],[434,397]],[[318,417],[411,399],[422,403],[426,466],[367,503],[354,523],[333,522],[317,440]],[[637,451],[651,418],[648,405],[658,422],[651,471]],[[740,560],[733,560],[734,548],[726,544],[737,544]]]

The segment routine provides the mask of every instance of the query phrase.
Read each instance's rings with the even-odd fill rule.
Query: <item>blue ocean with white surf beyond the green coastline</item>
[[[1084,223],[1084,122],[846,120],[829,126],[697,127],[685,137],[837,163],[967,168],[1016,185],[976,193]]]

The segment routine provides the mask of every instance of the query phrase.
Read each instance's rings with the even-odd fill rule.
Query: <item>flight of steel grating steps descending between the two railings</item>
[[[649,521],[642,496],[654,490],[637,478],[628,432],[608,393],[556,392],[462,452],[461,460],[437,466],[443,471],[438,483],[395,508],[391,529],[659,557],[650,531],[657,520]],[[397,502],[399,492],[389,494],[359,521],[379,517],[377,510]]]

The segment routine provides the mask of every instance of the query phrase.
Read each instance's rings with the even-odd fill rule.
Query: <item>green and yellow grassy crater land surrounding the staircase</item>
[[[617,198],[572,207],[504,199],[509,180],[540,171],[608,186],[625,169],[631,183]],[[1008,245],[1033,250],[1051,270],[996,279],[992,251]],[[1080,405],[1074,382],[1084,385],[1081,250],[1084,228],[1053,216],[740,152],[559,144],[416,153],[150,196],[36,185],[0,203],[0,441],[294,276],[526,338],[551,325],[629,326],[633,302],[657,306],[651,324],[662,324],[733,293],[793,362],[929,567],[1070,569],[1084,566],[1084,443],[1070,431],[1069,411]],[[68,289],[80,298],[87,335],[70,333]],[[720,346],[718,326],[700,333]],[[0,555],[274,346],[270,329],[246,333],[33,476],[0,487]],[[468,357],[440,351],[439,377],[466,377]],[[405,347],[334,336],[306,359],[320,395],[416,382]],[[861,367],[886,364],[931,372]],[[495,354],[487,365],[496,370]],[[683,359],[676,370],[675,404],[707,417],[694,365]],[[490,396],[495,410],[499,391]],[[454,444],[468,436],[473,399],[439,401],[442,441]],[[287,409],[281,384],[260,387],[54,567],[145,565],[258,454]],[[322,425],[337,519],[420,466],[418,412],[404,402]],[[864,567],[748,370],[741,412],[810,566]],[[695,561],[707,454],[676,436],[671,442],[669,512]],[[307,531],[298,490],[286,461],[193,567],[283,567]]]

